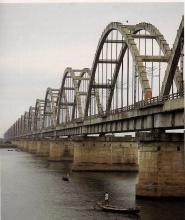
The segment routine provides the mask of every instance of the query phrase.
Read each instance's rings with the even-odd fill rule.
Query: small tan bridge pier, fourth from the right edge
[[[36,141],[36,154],[38,156],[48,157],[49,156],[49,140]]]

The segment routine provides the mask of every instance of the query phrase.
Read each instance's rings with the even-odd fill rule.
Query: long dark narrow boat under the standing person
[[[137,214],[139,213],[139,209],[135,208],[119,208],[112,205],[105,205],[101,202],[97,202],[97,205],[103,210],[107,212],[118,212],[118,213],[124,213],[124,214]]]

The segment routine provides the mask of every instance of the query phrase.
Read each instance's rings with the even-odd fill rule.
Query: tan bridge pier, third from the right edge
[[[50,161],[63,161],[73,160],[73,143],[69,140],[55,140],[50,142],[49,160]]]

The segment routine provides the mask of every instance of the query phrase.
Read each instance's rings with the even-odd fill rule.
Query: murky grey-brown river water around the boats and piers
[[[136,173],[73,172],[63,181],[70,167],[0,149],[1,220],[185,220],[185,200],[136,200]],[[96,209],[106,191],[112,204],[139,207],[140,217]]]

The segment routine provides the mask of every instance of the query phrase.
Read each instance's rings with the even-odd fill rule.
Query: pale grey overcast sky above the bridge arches
[[[0,137],[66,67],[92,65],[112,21],[150,22],[172,46],[183,3],[0,4]]]

